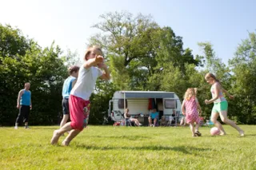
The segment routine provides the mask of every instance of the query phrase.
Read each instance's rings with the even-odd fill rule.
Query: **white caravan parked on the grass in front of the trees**
[[[174,92],[163,91],[116,91],[109,101],[109,117],[113,121],[123,119],[124,108],[129,109],[130,115],[141,115],[138,121],[143,125],[148,124],[150,109],[156,108],[159,112],[159,119],[164,115],[171,117],[176,111],[175,125],[182,113],[182,105]]]

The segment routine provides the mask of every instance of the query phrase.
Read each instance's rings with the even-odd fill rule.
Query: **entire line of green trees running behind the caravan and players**
[[[242,124],[256,123],[256,34],[238,42],[234,57],[225,65],[214,53],[210,42],[198,42],[203,55],[184,49],[182,37],[170,26],[158,26],[150,15],[114,12],[100,15],[93,27],[98,34],[88,45],[100,45],[111,81],[97,81],[90,101],[90,124],[102,124],[108,101],[116,90],[173,91],[182,100],[189,87],[198,88],[202,116],[210,117],[210,85],[204,75],[214,73],[222,86],[234,94],[229,101],[229,117]],[[0,24],[0,125],[14,125],[18,91],[31,83],[32,125],[56,125],[62,117],[62,83],[68,77],[67,66],[77,60],[66,55],[54,42],[42,48],[21,30]]]

